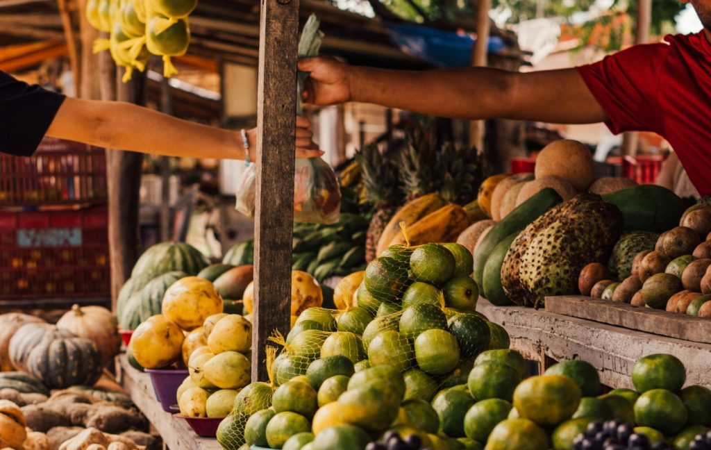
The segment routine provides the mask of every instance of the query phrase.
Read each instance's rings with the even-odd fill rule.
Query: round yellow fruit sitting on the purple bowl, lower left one
[[[141,367],[162,369],[181,357],[184,338],[177,323],[159,314],[136,328],[129,348]]]

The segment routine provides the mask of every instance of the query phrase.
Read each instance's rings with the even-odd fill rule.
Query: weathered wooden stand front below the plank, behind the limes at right
[[[538,361],[542,370],[559,360],[586,360],[611,387],[632,387],[635,361],[651,353],[670,353],[686,366],[687,384],[711,387],[711,345],[553,314],[522,306],[494,306],[479,298],[476,310],[506,328],[511,348]]]

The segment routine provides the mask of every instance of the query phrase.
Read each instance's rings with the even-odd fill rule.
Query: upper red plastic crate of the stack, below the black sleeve
[[[0,206],[105,203],[103,149],[46,137],[30,158],[0,156]]]

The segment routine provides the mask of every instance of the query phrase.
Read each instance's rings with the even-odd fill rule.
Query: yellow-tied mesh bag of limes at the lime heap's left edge
[[[245,425],[252,414],[272,406],[272,395],[276,385],[272,377],[272,365],[275,363],[277,348],[267,346],[267,371],[269,382],[253,382],[247,385],[235,397],[235,406],[228,417],[225,417],[216,437],[223,449],[238,450],[245,445]]]

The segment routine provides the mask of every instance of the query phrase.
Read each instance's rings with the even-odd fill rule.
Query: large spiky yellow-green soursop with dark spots
[[[622,214],[599,195],[584,193],[557,205],[516,237],[501,267],[506,295],[539,306],[545,296],[574,294],[580,270],[606,262],[622,230]]]

